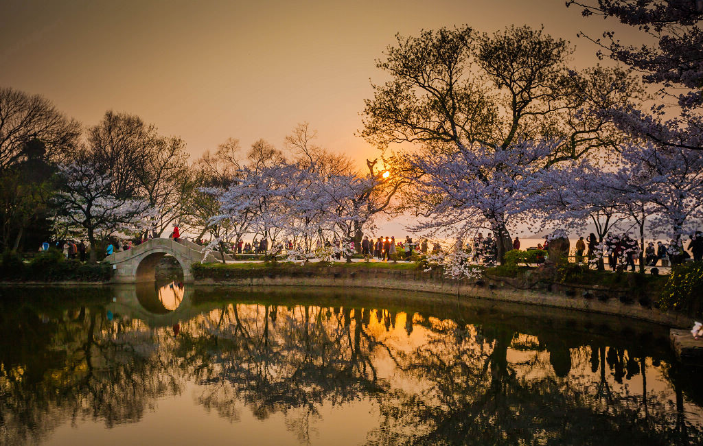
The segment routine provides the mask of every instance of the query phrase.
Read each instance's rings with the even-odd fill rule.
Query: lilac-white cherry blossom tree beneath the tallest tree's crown
[[[543,170],[537,162],[552,153],[555,144],[522,141],[511,150],[496,150],[476,143],[433,156],[404,155],[403,164],[422,172],[414,190],[423,197],[417,209],[424,218],[412,229],[465,233],[487,222],[496,239],[509,238],[512,219],[529,218],[532,209],[524,203],[534,176]],[[505,248],[497,245],[501,258]]]

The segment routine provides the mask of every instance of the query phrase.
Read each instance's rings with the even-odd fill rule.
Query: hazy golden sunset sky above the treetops
[[[359,112],[396,32],[543,24],[577,44],[579,67],[597,59],[576,32],[614,26],[564,0],[1,0],[0,17],[0,86],[41,93],[84,124],[138,114],[197,157],[229,137],[281,147],[308,121],[360,166],[378,152],[354,136]]]

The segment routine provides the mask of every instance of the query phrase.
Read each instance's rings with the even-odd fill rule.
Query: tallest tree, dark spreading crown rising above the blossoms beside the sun
[[[522,173],[513,168],[519,165],[529,175],[613,147],[619,136],[596,111],[639,96],[623,70],[569,70],[571,46],[541,29],[510,27],[478,34],[469,27],[443,28],[397,39],[377,64],[392,79],[373,86],[361,135],[382,149],[400,143],[414,146],[417,156],[404,149],[389,157],[393,176],[411,184],[400,211],[440,216],[438,223],[448,228],[458,224],[459,230],[488,225],[498,238],[499,258],[512,247],[507,202],[514,199],[515,182],[522,181]],[[550,151],[534,157],[535,152],[526,151],[526,141],[538,151],[550,145]],[[470,159],[473,150],[475,159]],[[435,159],[458,159],[477,181],[442,185],[437,174],[444,173]],[[502,162],[508,163],[505,169]],[[422,179],[425,167],[434,181]],[[453,196],[441,196],[461,181],[471,184],[451,191]],[[415,190],[416,183],[425,189]],[[434,193],[426,195],[430,190]],[[449,205],[457,197],[466,204],[459,206],[461,211]],[[470,202],[477,205],[468,206]]]

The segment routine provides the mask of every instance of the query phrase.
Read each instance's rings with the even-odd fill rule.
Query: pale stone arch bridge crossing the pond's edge
[[[154,268],[165,255],[174,256],[183,270],[183,282],[193,282],[193,263],[215,262],[217,259],[202,253],[203,248],[188,240],[151,239],[127,251],[118,251],[105,257],[112,265],[112,282],[134,283],[154,280]]]

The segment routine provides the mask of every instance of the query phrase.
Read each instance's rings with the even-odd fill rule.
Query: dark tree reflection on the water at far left
[[[4,303],[0,313],[2,444],[38,442],[65,421],[135,421],[183,386],[159,339],[94,303],[43,313]]]

